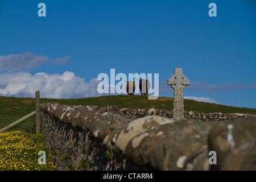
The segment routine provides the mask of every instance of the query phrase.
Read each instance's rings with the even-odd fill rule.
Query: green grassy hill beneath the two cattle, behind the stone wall
[[[101,96],[101,97],[89,97],[79,99],[50,99],[40,98],[40,102],[57,102],[59,104],[66,105],[98,105],[99,107],[107,105],[117,105],[120,108],[132,107],[136,108],[148,108],[154,107],[156,109],[168,109],[172,110],[173,98],[159,97],[157,100],[148,100],[147,96],[138,95],[118,95],[118,96]],[[193,100],[184,100],[184,109],[189,111],[198,111],[204,113],[247,113],[256,114],[256,109],[249,109],[246,107],[232,107],[220,104],[210,104],[207,102],[197,102]],[[10,123],[24,117],[35,110],[35,98],[17,98],[17,97],[3,97],[0,96],[0,129],[9,125]],[[8,129],[23,130],[34,132],[35,131],[35,115],[25,119],[18,125],[15,125]]]

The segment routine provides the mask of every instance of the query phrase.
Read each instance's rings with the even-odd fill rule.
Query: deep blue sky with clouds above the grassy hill
[[[38,4],[46,4],[46,17]],[[217,16],[210,17],[209,3]],[[101,96],[97,76],[183,68],[184,97],[256,108],[256,1],[0,1],[0,95]],[[117,84],[117,82],[115,82]]]

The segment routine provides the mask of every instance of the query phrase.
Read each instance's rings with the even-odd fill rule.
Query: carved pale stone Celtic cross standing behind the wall
[[[189,85],[189,79],[183,75],[182,68],[175,68],[175,74],[168,78],[168,85],[174,89],[174,118],[184,118],[183,89]]]

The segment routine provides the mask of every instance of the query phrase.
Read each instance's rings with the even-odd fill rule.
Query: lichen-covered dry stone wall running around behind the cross
[[[40,107],[59,170],[256,170],[256,119],[249,114],[186,111],[187,119],[173,119],[164,109]],[[217,164],[209,164],[209,151]]]

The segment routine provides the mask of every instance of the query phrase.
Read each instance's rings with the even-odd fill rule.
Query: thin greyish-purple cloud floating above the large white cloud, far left
[[[27,72],[31,68],[41,67],[47,62],[54,64],[66,64],[70,61],[71,57],[57,58],[51,60],[51,57],[34,55],[31,52],[24,52],[18,55],[10,54],[8,56],[0,55],[0,71],[14,72]]]

